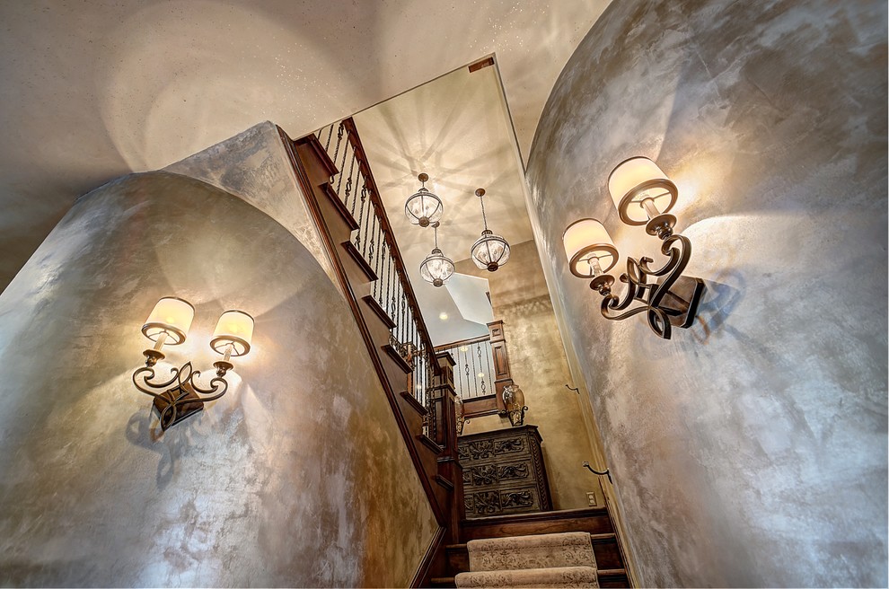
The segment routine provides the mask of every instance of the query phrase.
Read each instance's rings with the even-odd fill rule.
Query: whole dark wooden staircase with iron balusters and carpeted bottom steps
[[[578,568],[555,558],[537,563],[545,566],[494,572],[511,586],[547,586],[553,575],[560,580],[552,583],[587,584],[570,586],[597,586],[596,578],[602,587],[630,586],[605,507],[462,519],[453,357],[436,353],[429,339],[355,124],[345,119],[296,141],[278,132],[439,525],[410,586],[453,587],[463,573],[470,576],[460,577],[461,586],[496,586],[490,576],[473,576],[492,573],[479,568],[489,566],[481,564],[486,547],[515,549],[517,543],[545,552],[541,546],[551,539],[522,539],[557,534],[564,541],[566,532],[583,532],[579,537],[592,547],[592,562],[583,570],[554,573],[550,569]],[[472,546],[481,549],[476,557]],[[480,563],[476,570],[472,560]]]

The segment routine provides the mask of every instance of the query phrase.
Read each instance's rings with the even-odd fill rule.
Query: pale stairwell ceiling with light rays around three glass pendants
[[[419,266],[434,247],[434,230],[410,224],[404,203],[420,186],[418,174],[426,172],[427,189],[445,207],[438,246],[453,261],[469,259],[480,237],[481,206],[474,194],[478,188],[487,191],[491,231],[512,244],[533,239],[524,167],[497,66],[473,72],[461,67],[359,112],[355,124],[433,343],[487,335],[485,323],[493,317],[466,321],[467,307],[487,306],[490,315],[487,281],[455,277],[440,288],[425,282]],[[471,288],[464,284],[469,282],[485,284]],[[443,312],[447,319],[439,318]]]

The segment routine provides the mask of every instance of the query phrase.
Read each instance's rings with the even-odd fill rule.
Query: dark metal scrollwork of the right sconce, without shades
[[[620,278],[627,285],[623,300],[612,293],[613,277],[601,275],[590,283],[591,288],[604,296],[602,315],[605,319],[621,321],[644,312],[648,327],[665,339],[670,338],[673,325],[682,328],[691,325],[704,287],[700,278],[682,276],[691,259],[691,242],[684,235],[670,235],[661,244],[661,253],[668,259],[660,268],[651,268],[654,261],[651,258],[627,259],[627,271]],[[660,279],[649,282],[649,277]],[[677,286],[681,288],[674,288]],[[625,311],[634,302],[642,304]]]

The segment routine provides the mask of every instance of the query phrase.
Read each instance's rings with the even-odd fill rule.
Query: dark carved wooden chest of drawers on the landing
[[[467,518],[552,509],[541,442],[537,426],[459,438]]]

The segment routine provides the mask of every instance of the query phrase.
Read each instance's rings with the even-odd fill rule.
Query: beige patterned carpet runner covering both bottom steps
[[[458,587],[598,587],[593,543],[586,532],[471,540],[470,572]]]

